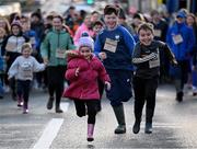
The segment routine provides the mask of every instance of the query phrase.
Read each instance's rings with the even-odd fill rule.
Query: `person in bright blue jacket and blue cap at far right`
[[[166,34],[166,43],[178,62],[177,67],[170,66],[170,74],[174,79],[176,100],[178,102],[183,101],[184,84],[188,80],[188,71],[190,68],[189,54],[195,44],[194,31],[186,25],[185,19],[186,14],[183,11],[178,11],[175,23],[169,28]]]

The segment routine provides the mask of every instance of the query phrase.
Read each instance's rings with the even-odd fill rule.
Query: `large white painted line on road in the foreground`
[[[61,125],[63,123],[63,118],[53,118],[45,130],[43,131],[42,137],[35,144],[33,149],[49,149],[53,140],[56,138]]]

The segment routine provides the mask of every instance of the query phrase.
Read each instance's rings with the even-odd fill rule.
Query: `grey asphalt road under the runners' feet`
[[[197,148],[197,96],[187,91],[177,103],[174,91],[172,85],[159,88],[151,135],[144,134],[144,112],[140,133],[132,134],[132,99],[125,104],[127,133],[115,135],[116,119],[104,95],[91,144],[86,141],[86,117],[77,117],[68,99],[61,103],[65,113],[56,114],[46,110],[47,93],[32,91],[30,113],[22,114],[5,94],[0,100],[0,149]]]

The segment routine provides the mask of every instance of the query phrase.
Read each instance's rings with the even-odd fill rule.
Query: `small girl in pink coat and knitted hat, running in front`
[[[63,96],[73,100],[79,117],[88,114],[88,141],[93,141],[93,131],[99,104],[100,92],[97,79],[100,78],[106,89],[111,89],[109,77],[103,64],[92,54],[93,41],[90,36],[82,36],[79,41],[79,50],[67,53],[68,69],[66,79],[69,87]]]

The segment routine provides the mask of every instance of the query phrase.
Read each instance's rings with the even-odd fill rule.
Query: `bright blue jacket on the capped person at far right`
[[[183,37],[183,42],[175,44],[173,42],[173,36],[178,34]],[[195,44],[194,31],[185,23],[178,24],[175,22],[167,31],[166,43],[175,55],[176,60],[187,60],[189,59],[189,54],[192,53]]]

